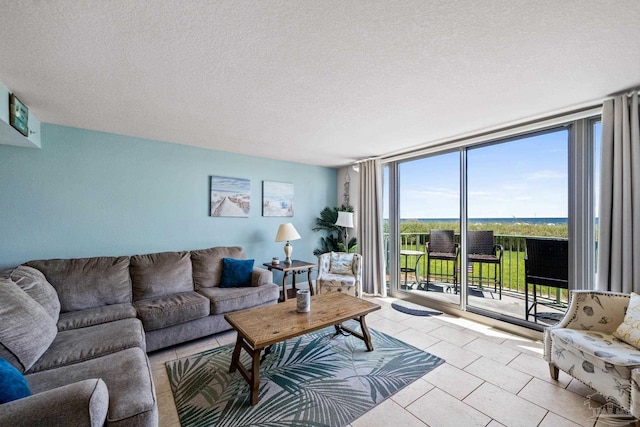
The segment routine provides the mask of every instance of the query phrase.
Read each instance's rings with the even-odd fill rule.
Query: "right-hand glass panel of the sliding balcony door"
[[[548,323],[564,313],[569,268],[568,156],[565,127],[467,149],[469,309]],[[539,261],[547,263],[540,268],[563,273],[557,282],[545,283],[564,288],[536,286],[537,279],[527,278],[538,247],[550,253]]]

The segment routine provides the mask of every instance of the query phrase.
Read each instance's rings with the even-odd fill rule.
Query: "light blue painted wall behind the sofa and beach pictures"
[[[293,257],[315,262],[322,234],[311,229],[337,201],[333,168],[44,123],[41,132],[41,149],[0,145],[0,268],[235,245],[261,265],[284,258],[273,241],[284,222],[302,236]],[[249,218],[209,216],[212,175],[251,180]],[[294,184],[293,217],[262,216],[263,180]]]

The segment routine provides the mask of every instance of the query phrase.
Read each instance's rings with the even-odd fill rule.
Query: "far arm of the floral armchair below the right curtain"
[[[544,331],[544,356],[551,361],[551,331],[580,329],[612,334],[624,321],[630,295],[606,291],[571,291],[571,300],[560,322]]]

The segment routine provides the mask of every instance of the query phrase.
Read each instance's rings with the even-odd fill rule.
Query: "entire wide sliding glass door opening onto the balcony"
[[[554,323],[595,282],[599,134],[597,117],[554,120],[388,162],[391,294]]]

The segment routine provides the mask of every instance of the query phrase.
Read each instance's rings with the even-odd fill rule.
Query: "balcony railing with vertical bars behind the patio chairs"
[[[503,292],[511,293],[513,295],[521,295],[524,297],[524,289],[525,289],[525,240],[527,237],[534,236],[505,236],[505,235],[494,235],[495,244],[502,245],[504,248],[504,253],[502,257],[502,290]],[[388,247],[388,234],[385,234],[385,247]],[[456,241],[460,241],[460,236],[456,234]],[[422,251],[425,252],[425,255],[419,259],[418,262],[418,274],[419,280],[426,281],[427,278],[427,256],[426,256],[426,248],[425,244],[429,241],[429,233],[428,232],[413,232],[413,233],[401,233],[401,248],[402,250],[414,250],[414,251]],[[389,266],[387,251],[387,271]],[[416,266],[416,256],[402,256],[400,257],[400,267],[402,268],[414,268]],[[452,275],[453,271],[451,270],[452,263],[447,261],[432,261],[431,271],[435,272],[436,275],[445,274]],[[459,268],[459,265],[458,265]],[[469,267],[479,268],[475,263]],[[489,266],[484,264],[482,276],[488,277],[489,275]],[[473,272],[470,275],[471,278],[476,278],[480,276],[479,272]],[[414,276],[410,276],[412,280],[415,279]],[[404,274],[401,277],[401,281],[404,281]],[[471,282],[471,285],[477,283]],[[532,292],[532,288],[529,287]],[[537,286],[538,298],[548,299],[551,301],[555,301],[557,303],[566,304],[568,303],[568,292],[566,289],[553,288],[549,286]]]

